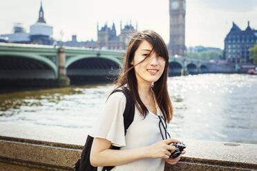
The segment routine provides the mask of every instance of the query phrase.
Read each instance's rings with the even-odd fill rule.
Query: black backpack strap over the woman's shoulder
[[[123,113],[123,121],[124,121],[124,134],[126,135],[126,130],[131,125],[134,119],[135,115],[135,102],[133,100],[133,97],[131,96],[131,92],[126,87],[122,87],[122,89],[116,89],[114,92],[123,92],[126,97],[126,107]],[[111,146],[111,149],[113,150],[120,150],[120,147]],[[114,168],[114,166],[105,166],[102,171],[111,171]]]

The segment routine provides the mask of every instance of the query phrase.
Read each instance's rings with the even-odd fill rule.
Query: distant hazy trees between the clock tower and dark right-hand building
[[[216,60],[219,59],[220,55],[222,55],[222,51],[217,50],[209,50],[209,51],[202,51],[202,52],[188,52],[188,58],[194,58],[204,61],[209,61],[211,59]]]

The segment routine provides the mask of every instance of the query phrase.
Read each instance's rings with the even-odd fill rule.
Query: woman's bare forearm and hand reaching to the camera
[[[131,150],[111,150],[111,142],[107,139],[95,138],[91,148],[91,165],[108,166],[122,165],[144,158],[169,159],[171,152],[175,150],[170,143],[178,143],[176,139],[166,139],[153,145]]]

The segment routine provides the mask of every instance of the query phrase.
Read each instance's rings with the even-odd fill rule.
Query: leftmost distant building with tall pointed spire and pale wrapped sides
[[[6,37],[11,43],[53,45],[53,27],[46,24],[42,2],[39,19],[37,23],[30,26],[30,32],[26,32],[21,23],[16,23],[13,30],[13,34],[1,34],[0,37]]]

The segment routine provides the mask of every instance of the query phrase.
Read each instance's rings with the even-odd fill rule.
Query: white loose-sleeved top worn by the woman
[[[155,105],[157,105],[155,101]],[[162,141],[159,128],[159,117],[149,111],[145,119],[135,106],[135,117],[124,136],[123,112],[126,106],[126,97],[122,92],[111,94],[104,105],[102,114],[99,115],[89,135],[111,141],[112,145],[121,147],[120,150],[128,150],[152,145]],[[157,107],[157,114],[161,115]],[[164,159],[140,159],[124,165],[117,165],[112,171],[160,171],[164,170]],[[98,167],[97,171],[102,171]]]

